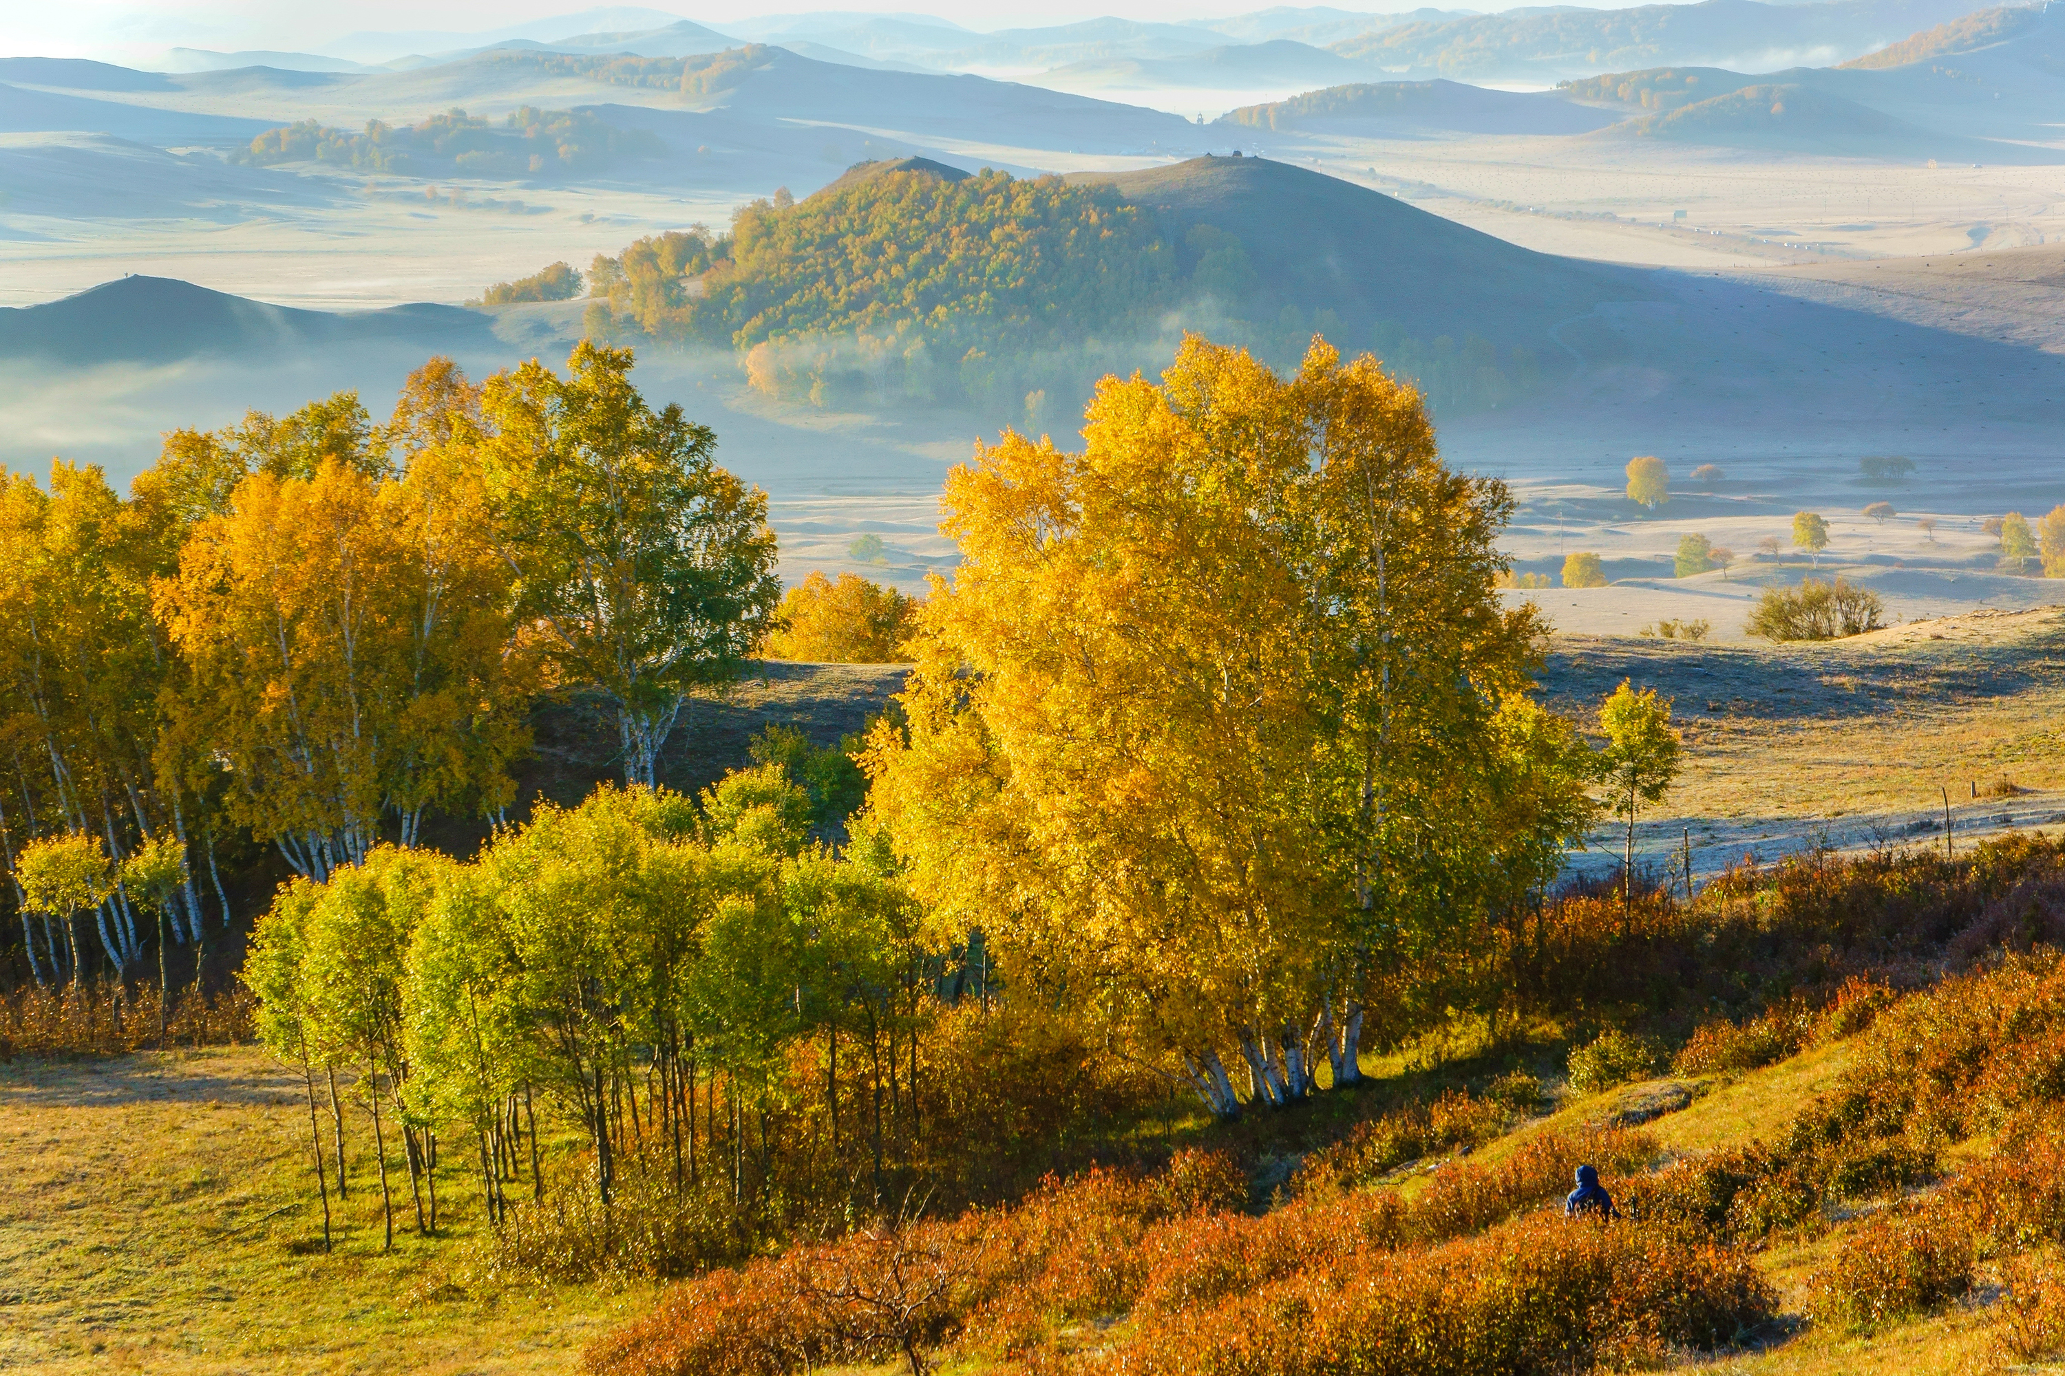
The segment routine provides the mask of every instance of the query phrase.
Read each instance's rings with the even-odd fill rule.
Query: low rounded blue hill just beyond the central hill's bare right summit
[[[1289,101],[1243,105],[1220,124],[1272,132],[1384,134],[1443,130],[1454,134],[1588,134],[1619,116],[1578,105],[1563,95],[1487,91],[1460,80],[1384,80],[1307,91]]]

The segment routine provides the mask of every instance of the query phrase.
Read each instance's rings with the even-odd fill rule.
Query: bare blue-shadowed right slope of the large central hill
[[[1212,225],[1237,235],[1256,276],[1286,303],[1390,320],[1423,338],[1481,334],[1540,347],[1553,326],[1605,301],[1658,299],[1635,274],[1536,254],[1270,159],[1200,157],[1070,182],[1111,182],[1177,233]]]

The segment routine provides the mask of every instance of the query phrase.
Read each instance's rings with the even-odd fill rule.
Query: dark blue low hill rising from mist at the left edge
[[[81,367],[380,340],[436,351],[487,342],[487,326],[485,316],[456,305],[328,314],[167,276],[124,276],[60,301],[0,309],[0,357]]]

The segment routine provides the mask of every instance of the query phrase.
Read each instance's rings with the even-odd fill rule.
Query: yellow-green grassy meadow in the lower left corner
[[[454,1285],[483,1232],[463,1153],[440,1164],[440,1236],[396,1227],[382,1254],[357,1122],[322,1254],[306,1087],[254,1048],[17,1060],[0,1141],[10,1372],[568,1372],[644,1300]]]

